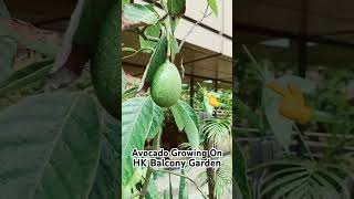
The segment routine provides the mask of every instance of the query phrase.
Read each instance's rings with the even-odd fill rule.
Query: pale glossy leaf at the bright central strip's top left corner
[[[156,24],[158,22],[158,14],[147,6],[132,3],[124,7],[123,15],[133,23],[143,22],[146,24]]]

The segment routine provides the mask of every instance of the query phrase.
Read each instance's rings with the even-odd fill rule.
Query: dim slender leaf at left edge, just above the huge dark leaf
[[[53,63],[54,60],[40,61],[14,72],[6,81],[0,83],[0,96],[43,80],[52,70]]]

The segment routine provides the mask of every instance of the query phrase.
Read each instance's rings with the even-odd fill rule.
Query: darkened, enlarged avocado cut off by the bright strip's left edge
[[[121,4],[116,1],[103,22],[91,63],[92,82],[101,104],[121,116]]]

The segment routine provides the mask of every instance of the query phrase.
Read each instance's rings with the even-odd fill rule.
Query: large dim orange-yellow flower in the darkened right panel
[[[271,82],[267,87],[283,96],[279,104],[281,115],[301,124],[310,121],[312,108],[305,105],[301,91],[294,84],[289,83],[288,90],[284,90],[275,82]]]

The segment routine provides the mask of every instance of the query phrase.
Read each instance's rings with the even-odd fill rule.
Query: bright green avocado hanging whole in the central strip
[[[180,98],[180,75],[177,67],[168,60],[154,75],[150,92],[153,101],[162,107],[170,107]]]

